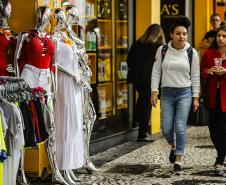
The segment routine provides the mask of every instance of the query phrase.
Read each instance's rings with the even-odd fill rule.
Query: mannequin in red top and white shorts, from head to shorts
[[[54,56],[54,44],[45,29],[49,23],[50,9],[37,9],[37,24],[34,30],[21,33],[17,43],[16,62],[21,77],[31,88],[42,87],[50,93],[50,68]]]

